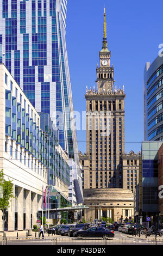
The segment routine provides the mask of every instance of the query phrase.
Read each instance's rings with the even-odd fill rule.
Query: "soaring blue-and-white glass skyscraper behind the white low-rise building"
[[[0,62],[37,112],[59,128],[59,144],[76,163],[77,202],[83,202],[66,52],[66,0],[3,0],[0,3]]]

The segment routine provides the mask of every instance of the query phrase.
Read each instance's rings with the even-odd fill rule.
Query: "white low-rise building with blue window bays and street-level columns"
[[[51,185],[50,191],[59,193],[58,199],[49,200],[55,213],[57,204],[61,208],[72,205],[68,200],[71,167],[49,114],[36,112],[4,64],[0,64],[0,95],[0,169],[12,181],[16,197],[7,209],[5,229],[30,229],[36,224],[36,213],[42,212],[42,187]],[[50,218],[56,218],[54,211]]]

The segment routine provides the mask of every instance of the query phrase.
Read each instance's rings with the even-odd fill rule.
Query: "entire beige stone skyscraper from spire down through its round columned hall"
[[[104,37],[97,65],[97,90],[86,88],[86,154],[79,154],[83,166],[84,211],[86,221],[111,217],[118,221],[133,217],[133,193],[123,190],[124,87],[114,88],[111,52]]]

